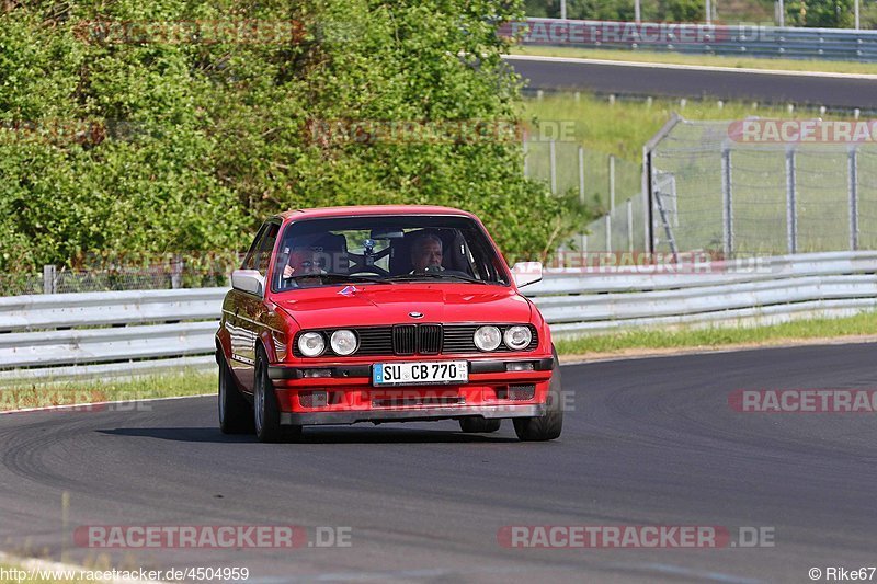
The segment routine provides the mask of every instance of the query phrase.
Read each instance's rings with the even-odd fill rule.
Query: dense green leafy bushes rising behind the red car
[[[504,251],[532,253],[578,210],[523,179],[519,140],[364,142],[308,130],[315,121],[515,121],[520,81],[494,34],[521,16],[508,2],[4,5],[0,271],[107,250],[241,249],[267,215],[344,204],[463,207]],[[106,23],[197,21],[205,34],[203,23],[243,20],[301,26],[269,43],[173,41],[148,27],[125,43],[101,36]]]

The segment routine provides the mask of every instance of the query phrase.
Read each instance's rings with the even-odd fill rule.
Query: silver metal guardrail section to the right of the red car
[[[641,327],[773,324],[877,308],[877,252],[695,263],[687,270],[556,271],[527,295],[556,337]]]

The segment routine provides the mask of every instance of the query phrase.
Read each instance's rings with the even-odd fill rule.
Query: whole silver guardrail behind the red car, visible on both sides
[[[525,288],[557,337],[640,327],[773,323],[877,309],[877,252],[549,271]],[[663,266],[667,268],[668,266]],[[0,383],[213,368],[227,288],[0,298]]]

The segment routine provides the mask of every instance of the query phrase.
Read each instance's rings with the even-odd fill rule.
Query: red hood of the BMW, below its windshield
[[[415,322],[529,322],[529,302],[511,287],[472,284],[327,286],[274,302],[301,329]],[[410,312],[420,312],[413,319]]]

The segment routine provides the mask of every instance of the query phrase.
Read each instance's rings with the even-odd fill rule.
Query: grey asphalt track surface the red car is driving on
[[[877,345],[567,366],[561,438],[456,423],[225,437],[213,399],[0,416],[0,542],[57,559],[87,525],[350,526],[351,547],[122,550],[128,568],[244,565],[251,583],[809,582],[877,564],[877,419],[734,412],[736,389],[875,388]],[[61,492],[70,494],[62,535]],[[514,525],[774,529],[773,547],[512,549]],[[736,536],[734,536],[736,537]],[[76,548],[70,561],[104,550]]]

